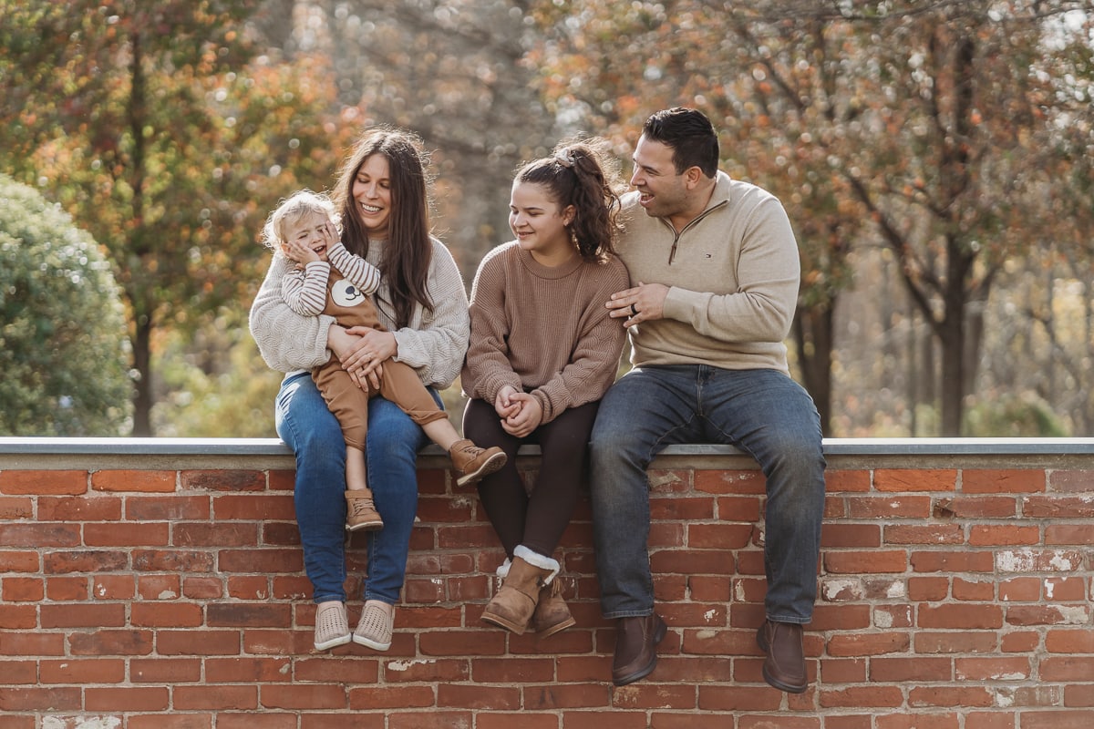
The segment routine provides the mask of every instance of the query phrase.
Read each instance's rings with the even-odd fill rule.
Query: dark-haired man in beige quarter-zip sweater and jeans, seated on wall
[[[612,679],[653,671],[667,630],[653,609],[645,469],[667,445],[724,443],[766,477],[764,679],[801,693],[825,462],[816,407],[782,343],[800,279],[794,234],[778,199],[718,169],[718,136],[697,110],[651,116],[633,161],[619,255],[636,285],[606,304],[629,329],[633,368],[601,402],[591,450],[601,609],[618,620]]]

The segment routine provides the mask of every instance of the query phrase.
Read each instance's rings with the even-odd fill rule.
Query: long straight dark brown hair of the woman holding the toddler
[[[353,146],[338,176],[334,198],[341,211],[342,245],[362,258],[369,252],[369,233],[353,201],[353,180],[373,154],[387,158],[392,192],[387,250],[379,267],[391,301],[376,304],[388,309],[396,327],[406,327],[416,305],[433,310],[427,286],[433,244],[429,237],[424,153],[417,137],[386,127],[365,132]]]

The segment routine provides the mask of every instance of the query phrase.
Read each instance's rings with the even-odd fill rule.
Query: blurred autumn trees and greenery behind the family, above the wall
[[[589,133],[626,168],[687,105],[795,225],[828,435],[1094,435],[1092,5],[0,0],[0,431],[272,436],[257,236],[362,129],[423,138],[469,284],[522,161]]]

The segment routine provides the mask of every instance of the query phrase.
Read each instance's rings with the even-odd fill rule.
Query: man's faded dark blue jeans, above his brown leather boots
[[[810,622],[824,515],[821,439],[813,399],[775,369],[675,365],[624,375],[601,402],[591,445],[604,616],[653,612],[645,474],[650,461],[667,445],[719,443],[750,454],[767,479],[767,618]]]

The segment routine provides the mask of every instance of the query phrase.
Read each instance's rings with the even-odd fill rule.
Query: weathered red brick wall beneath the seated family
[[[477,498],[423,457],[391,651],[317,654],[292,461],[245,450],[0,452],[0,729],[1094,727],[1094,447],[834,448],[800,696],[760,678],[764,479],[741,456],[654,463],[671,631],[614,689],[587,503],[561,549],[578,626],[509,636],[479,622],[502,554]]]

